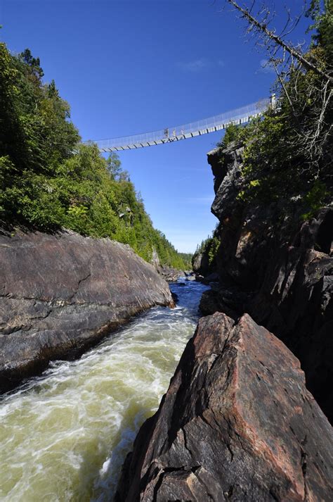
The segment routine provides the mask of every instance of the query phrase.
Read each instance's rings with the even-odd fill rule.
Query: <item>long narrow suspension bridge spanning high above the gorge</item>
[[[189,124],[166,127],[159,131],[145,132],[135,134],[134,136],[124,136],[112,139],[100,139],[94,143],[97,144],[100,152],[122,151],[143,148],[145,146],[154,146],[178,142],[181,139],[190,139],[202,134],[221,131],[229,125],[240,125],[260,117],[268,108],[275,108],[275,96],[260,99],[256,103],[242,106],[221,115],[197,120]]]

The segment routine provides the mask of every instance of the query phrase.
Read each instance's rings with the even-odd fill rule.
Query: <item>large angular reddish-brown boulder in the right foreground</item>
[[[244,315],[202,318],[115,500],[330,501],[332,428],[299,361]]]

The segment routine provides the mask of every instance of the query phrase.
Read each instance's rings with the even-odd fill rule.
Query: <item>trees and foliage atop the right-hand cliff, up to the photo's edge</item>
[[[313,0],[308,11],[315,21],[316,33],[308,54],[329,73],[333,60],[333,0]],[[237,200],[267,204],[276,201],[282,213],[297,206],[304,218],[310,218],[329,203],[332,196],[332,99],[323,101],[322,77],[312,70],[291,71],[284,88],[276,84],[278,109],[246,127],[231,126],[220,146],[230,142],[244,146],[242,187]],[[296,202],[296,205],[295,205]]]

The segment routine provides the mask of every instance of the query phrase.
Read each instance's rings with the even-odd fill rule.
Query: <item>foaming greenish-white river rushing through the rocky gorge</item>
[[[79,360],[55,361],[0,401],[0,500],[112,501],[143,421],[158,408],[197,324],[197,282]]]

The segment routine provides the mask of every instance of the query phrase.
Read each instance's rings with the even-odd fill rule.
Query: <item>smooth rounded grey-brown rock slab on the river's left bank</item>
[[[132,315],[173,304],[168,284],[129,246],[74,232],[1,234],[0,287],[2,391]]]

